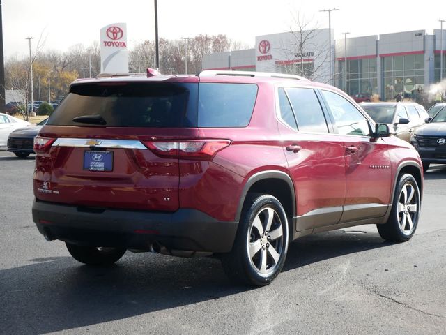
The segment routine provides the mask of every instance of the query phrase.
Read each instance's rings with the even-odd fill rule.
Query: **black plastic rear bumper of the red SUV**
[[[34,200],[41,234],[74,244],[148,250],[154,242],[171,250],[231,251],[238,222],[216,221],[196,209],[174,213],[87,208]]]

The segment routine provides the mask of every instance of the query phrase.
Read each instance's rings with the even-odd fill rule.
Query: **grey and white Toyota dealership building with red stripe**
[[[350,95],[378,94],[382,100],[398,93],[417,99],[440,81],[440,35],[440,29],[433,35],[415,30],[337,40],[333,29],[331,34],[329,29],[270,34],[256,36],[254,49],[207,54],[202,66],[203,70],[302,75],[333,84]],[[443,77],[445,67],[446,52]]]

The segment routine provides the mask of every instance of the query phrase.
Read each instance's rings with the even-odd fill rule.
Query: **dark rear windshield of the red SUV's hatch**
[[[48,125],[95,126],[72,121],[100,115],[112,127],[197,125],[197,84],[116,82],[78,84],[49,117]]]

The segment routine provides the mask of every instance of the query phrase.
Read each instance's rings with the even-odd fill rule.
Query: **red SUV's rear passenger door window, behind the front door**
[[[328,133],[327,121],[321,104],[313,89],[286,89],[299,131],[308,133]]]

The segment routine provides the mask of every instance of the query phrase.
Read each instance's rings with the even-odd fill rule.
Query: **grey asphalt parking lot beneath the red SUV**
[[[33,155],[0,152],[0,334],[445,334],[446,165],[425,174],[404,244],[374,226],[295,241],[265,288],[234,286],[215,258],[126,253],[73,260],[31,220]]]

